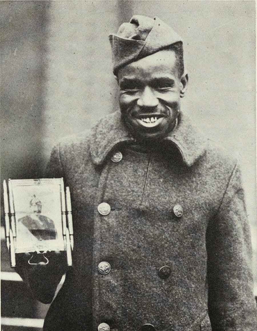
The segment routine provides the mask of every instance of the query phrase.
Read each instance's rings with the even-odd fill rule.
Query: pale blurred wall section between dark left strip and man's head
[[[46,148],[58,137],[79,134],[113,109],[108,34],[118,25],[117,1],[52,1]]]

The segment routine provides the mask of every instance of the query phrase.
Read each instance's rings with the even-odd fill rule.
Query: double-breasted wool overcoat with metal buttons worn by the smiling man
[[[256,331],[236,161],[183,116],[160,149],[133,142],[117,111],[52,153],[49,174],[70,187],[75,244],[45,330]]]

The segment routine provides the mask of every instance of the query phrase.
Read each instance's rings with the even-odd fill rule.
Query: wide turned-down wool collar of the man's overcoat
[[[135,141],[123,124],[120,111],[103,118],[94,127],[90,139],[90,151],[95,165],[101,165],[116,145]],[[187,166],[192,166],[205,151],[204,137],[190,123],[189,118],[182,115],[177,127],[164,140],[178,148]]]

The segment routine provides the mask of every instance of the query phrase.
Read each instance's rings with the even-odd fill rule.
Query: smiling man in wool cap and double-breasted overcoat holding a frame
[[[110,35],[120,110],[57,146],[70,187],[73,266],[18,271],[51,302],[45,330],[256,331],[240,170],[181,112],[181,38],[133,16]]]

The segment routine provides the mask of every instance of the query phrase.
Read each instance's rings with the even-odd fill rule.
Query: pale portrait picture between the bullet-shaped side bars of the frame
[[[15,253],[65,250],[62,195],[60,178],[9,180],[10,207],[13,200],[15,215]]]

